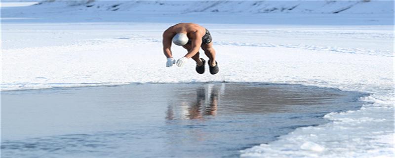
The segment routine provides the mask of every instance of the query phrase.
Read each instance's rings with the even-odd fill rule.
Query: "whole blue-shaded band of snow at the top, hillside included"
[[[3,22],[393,25],[390,0],[44,0],[2,8]]]

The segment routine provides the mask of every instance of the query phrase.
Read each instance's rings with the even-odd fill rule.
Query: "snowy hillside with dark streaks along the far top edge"
[[[382,0],[45,0],[38,5],[78,9],[143,12],[228,13],[392,13],[392,1]]]

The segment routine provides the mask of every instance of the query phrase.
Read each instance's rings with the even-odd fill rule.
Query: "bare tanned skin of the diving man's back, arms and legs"
[[[163,33],[163,53],[167,58],[172,58],[171,43],[172,38],[178,34],[187,34],[191,42],[183,45],[187,49],[188,53],[184,56],[186,58],[192,58],[196,61],[197,66],[201,66],[203,63],[199,58],[199,48],[204,50],[204,54],[210,59],[208,63],[211,67],[216,65],[215,60],[215,50],[213,48],[213,43],[202,43],[202,37],[206,34],[206,29],[200,25],[194,23],[179,23],[174,26],[169,27]]]

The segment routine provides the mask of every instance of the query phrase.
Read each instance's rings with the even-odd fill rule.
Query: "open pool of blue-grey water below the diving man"
[[[133,84],[2,93],[3,158],[238,157],[359,109],[367,93],[267,83]]]

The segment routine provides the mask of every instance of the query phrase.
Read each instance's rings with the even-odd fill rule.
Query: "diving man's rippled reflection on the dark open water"
[[[186,119],[197,119],[203,118],[204,116],[215,116],[217,114],[218,98],[219,98],[219,87],[213,86],[208,95],[206,95],[206,89],[204,87],[199,87],[196,90],[196,100],[193,102],[176,105],[177,109],[180,110],[180,118]],[[208,103],[206,102],[208,101]],[[174,119],[174,107],[172,105],[168,106],[166,118]]]

